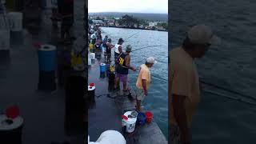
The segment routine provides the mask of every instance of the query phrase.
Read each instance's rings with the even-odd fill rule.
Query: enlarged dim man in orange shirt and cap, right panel
[[[182,46],[170,50],[169,143],[191,143],[190,126],[200,101],[200,83],[194,58],[202,58],[218,42],[209,26],[193,26]],[[202,88],[202,87],[201,87]]]

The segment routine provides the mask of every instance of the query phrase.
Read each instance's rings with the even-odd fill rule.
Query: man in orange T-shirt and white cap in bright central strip
[[[147,91],[150,86],[151,76],[150,68],[157,63],[153,57],[146,58],[145,64],[142,64],[139,69],[136,82],[136,110],[141,111],[141,102],[147,96]]]

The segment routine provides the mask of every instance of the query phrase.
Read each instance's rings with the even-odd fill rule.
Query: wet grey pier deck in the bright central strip
[[[88,83],[93,82],[96,86],[94,102],[90,102],[88,110],[88,134],[92,142],[95,142],[105,130],[118,130],[123,134],[121,115],[128,110],[135,110],[133,90],[131,96],[122,94],[121,91],[112,92],[109,90],[108,78],[101,78],[99,64],[104,61],[104,57],[95,60],[88,69]],[[150,124],[136,125],[134,133],[123,135],[127,144],[167,144],[154,119]]]

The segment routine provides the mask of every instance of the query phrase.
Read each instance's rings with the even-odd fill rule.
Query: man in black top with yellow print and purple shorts
[[[116,69],[116,78],[115,78],[115,85],[114,89],[118,90],[119,82],[122,82],[123,91],[127,92],[127,82],[128,82],[128,72],[130,70],[136,71],[134,66],[130,66],[130,52],[131,52],[132,46],[128,45],[126,46],[126,52],[121,53],[118,56],[118,66]]]

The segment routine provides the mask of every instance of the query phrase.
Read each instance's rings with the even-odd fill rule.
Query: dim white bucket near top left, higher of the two
[[[10,31],[22,31],[22,13],[10,12],[8,18],[10,19]]]

